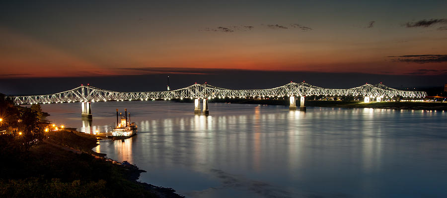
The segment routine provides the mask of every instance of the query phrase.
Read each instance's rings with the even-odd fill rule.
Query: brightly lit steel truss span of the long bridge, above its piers
[[[230,90],[208,84],[194,84],[178,90],[162,92],[115,92],[93,86],[80,86],[72,90],[41,96],[8,96],[15,104],[63,103],[86,101],[124,101],[155,99],[214,99],[214,98],[272,98],[285,96],[354,96],[423,98],[426,92],[402,91],[382,84],[365,84],[351,89],[326,89],[305,82],[283,85],[272,89]]]

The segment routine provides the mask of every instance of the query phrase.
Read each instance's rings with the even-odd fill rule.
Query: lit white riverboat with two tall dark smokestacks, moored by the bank
[[[119,113],[118,109],[116,109],[116,122],[118,123],[112,131],[112,139],[113,140],[121,140],[130,138],[132,136],[137,135],[138,126],[135,122],[130,122],[130,113],[129,113],[129,122],[127,121],[127,109],[124,109],[124,115]]]

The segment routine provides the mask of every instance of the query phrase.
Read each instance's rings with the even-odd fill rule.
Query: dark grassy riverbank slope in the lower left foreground
[[[181,198],[173,189],[138,182],[144,170],[96,153],[97,137],[74,130],[46,132],[38,145],[17,156],[0,180],[0,197]],[[4,171],[4,170],[3,170]]]

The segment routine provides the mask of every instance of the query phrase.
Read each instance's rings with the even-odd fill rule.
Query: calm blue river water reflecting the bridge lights
[[[210,103],[44,104],[55,123],[110,131],[127,108],[139,134],[93,148],[141,181],[191,198],[447,197],[447,112]]]

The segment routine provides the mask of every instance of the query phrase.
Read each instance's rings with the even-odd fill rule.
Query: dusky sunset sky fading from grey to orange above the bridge
[[[303,74],[295,81],[362,74],[441,85],[446,8],[445,0],[2,1],[0,82],[252,71],[263,74],[252,80],[295,72]]]

